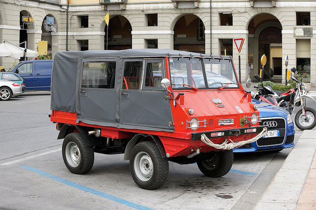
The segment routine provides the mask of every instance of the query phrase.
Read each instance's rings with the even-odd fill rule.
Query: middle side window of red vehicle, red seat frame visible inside
[[[142,70],[143,61],[125,61],[122,89],[139,90]]]

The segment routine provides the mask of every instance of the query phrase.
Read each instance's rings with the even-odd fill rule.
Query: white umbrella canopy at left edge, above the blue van
[[[1,43],[0,44],[0,57],[14,57],[20,58],[24,57],[24,49],[22,47],[17,47],[12,44]],[[26,50],[26,57],[36,57],[39,53],[34,50]]]

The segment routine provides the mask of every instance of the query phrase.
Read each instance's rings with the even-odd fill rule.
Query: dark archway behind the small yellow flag
[[[105,32],[104,49],[105,50],[131,49],[132,48],[131,31],[132,31],[132,27],[129,21],[125,17],[121,15],[112,17],[109,21],[109,29],[107,25],[105,25],[105,28],[104,28],[104,32]]]

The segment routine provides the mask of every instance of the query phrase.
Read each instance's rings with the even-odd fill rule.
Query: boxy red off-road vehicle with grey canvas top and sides
[[[174,50],[58,52],[51,110],[72,173],[89,172],[94,152],[124,153],[144,189],[163,185],[168,161],[224,176],[232,149],[266,132],[231,57]]]

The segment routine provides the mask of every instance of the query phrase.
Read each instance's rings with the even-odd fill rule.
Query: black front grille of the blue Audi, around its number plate
[[[275,121],[277,123],[276,127],[269,127],[269,129],[281,129],[285,128],[285,119],[284,118],[273,118],[273,119],[260,119],[260,125],[264,125],[264,122]],[[272,138],[260,138],[257,141],[259,147],[271,146],[271,145],[281,145],[284,141],[284,136],[272,137]]]

